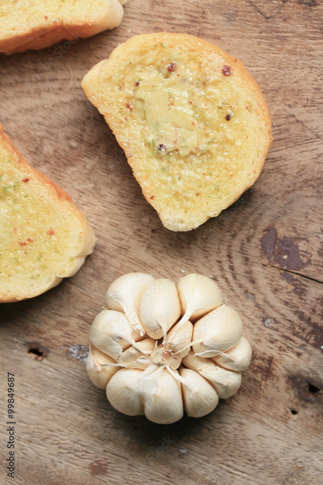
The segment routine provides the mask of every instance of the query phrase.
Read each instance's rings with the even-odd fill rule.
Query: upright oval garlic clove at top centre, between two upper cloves
[[[169,328],[181,316],[181,306],[175,284],[166,278],[147,286],[139,309],[140,322],[149,337],[166,338]]]

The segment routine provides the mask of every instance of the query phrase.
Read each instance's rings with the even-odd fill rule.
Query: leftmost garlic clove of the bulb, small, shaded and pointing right
[[[86,359],[86,371],[94,386],[105,389],[111,377],[121,369],[121,366],[110,356],[101,352],[90,343]]]

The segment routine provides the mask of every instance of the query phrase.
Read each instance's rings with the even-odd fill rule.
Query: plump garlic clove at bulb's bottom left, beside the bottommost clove
[[[109,403],[123,414],[137,416],[144,414],[143,395],[138,392],[141,369],[120,369],[107,386]]]

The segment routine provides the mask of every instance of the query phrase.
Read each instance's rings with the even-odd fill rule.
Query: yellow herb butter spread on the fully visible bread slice
[[[154,63],[131,62],[118,88],[120,136],[136,147],[154,187],[151,196],[174,208],[196,197],[225,203],[236,175],[246,172],[244,184],[253,175],[249,161],[255,160],[258,134],[250,123],[252,103],[239,91],[239,80],[232,90],[223,63],[217,64],[211,69],[198,56],[177,52]]]

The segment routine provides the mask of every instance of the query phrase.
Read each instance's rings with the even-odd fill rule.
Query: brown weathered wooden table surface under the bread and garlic
[[[185,233],[161,225],[80,87],[119,43],[163,30],[240,59],[273,122],[254,186]],[[0,121],[87,214],[98,242],[74,277],[0,307],[0,483],[13,483],[5,471],[12,372],[15,484],[322,484],[322,1],[129,0],[114,31],[60,45],[0,56]],[[131,271],[175,282],[208,275],[240,313],[253,359],[238,393],[208,416],[172,425],[127,417],[88,379],[90,325],[109,283]]]

